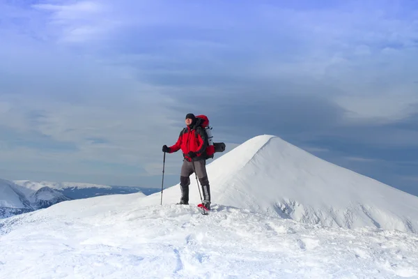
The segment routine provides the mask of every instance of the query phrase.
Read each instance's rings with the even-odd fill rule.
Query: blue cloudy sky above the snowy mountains
[[[160,188],[192,112],[418,195],[418,4],[316,2],[1,0],[0,177]]]

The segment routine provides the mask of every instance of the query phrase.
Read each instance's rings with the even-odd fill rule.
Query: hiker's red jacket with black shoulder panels
[[[187,153],[192,151],[196,153],[196,158],[194,160],[201,160],[201,155],[206,150],[207,145],[206,133],[203,128],[190,128],[187,126],[180,132],[176,144],[169,147],[169,153],[177,152],[181,149],[185,159],[190,161],[191,159],[187,156]]]

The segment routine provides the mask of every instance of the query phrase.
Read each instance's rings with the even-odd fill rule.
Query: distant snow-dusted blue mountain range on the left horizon
[[[0,218],[45,209],[71,199],[84,199],[101,195],[123,195],[158,192],[156,188],[105,186],[91,183],[8,181],[0,179]]]

